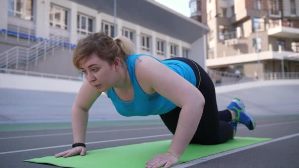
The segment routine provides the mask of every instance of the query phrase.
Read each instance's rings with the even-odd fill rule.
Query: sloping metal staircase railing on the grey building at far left
[[[63,46],[60,36],[52,36],[49,40],[43,40],[30,48],[13,47],[6,52],[0,54],[0,68],[15,68],[18,69],[19,65],[25,65],[26,70],[29,69],[29,63],[37,61],[40,57],[46,59],[47,53],[53,52],[59,45]]]

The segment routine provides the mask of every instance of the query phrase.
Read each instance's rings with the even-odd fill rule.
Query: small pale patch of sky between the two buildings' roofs
[[[155,0],[158,3],[167,6],[178,13],[190,17],[189,0]]]

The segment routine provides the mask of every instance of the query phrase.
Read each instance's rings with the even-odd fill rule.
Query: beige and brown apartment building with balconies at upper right
[[[264,78],[299,72],[299,0],[189,0],[209,27],[208,70]]]

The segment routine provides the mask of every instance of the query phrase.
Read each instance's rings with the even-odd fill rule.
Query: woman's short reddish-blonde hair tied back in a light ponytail
[[[77,69],[80,69],[81,61],[95,54],[110,65],[116,57],[120,57],[121,62],[125,65],[126,58],[132,55],[133,51],[134,45],[130,39],[124,36],[112,39],[104,32],[97,32],[78,42],[73,54],[73,64]]]

